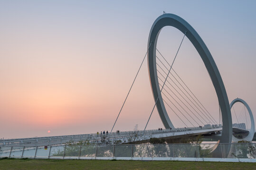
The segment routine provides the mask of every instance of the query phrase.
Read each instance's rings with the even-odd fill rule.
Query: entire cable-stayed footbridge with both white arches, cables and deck
[[[182,80],[178,73],[173,69],[172,66],[180,50],[180,46],[171,63],[169,63],[168,60],[165,59],[165,57],[161,54],[161,52],[156,49],[158,35],[164,26],[173,26],[184,34],[180,42],[180,46],[186,36],[199,52],[199,55],[203,60],[204,65],[206,66],[218,97],[219,121],[213,118],[212,114],[209,113],[202,102],[200,102],[195,94],[190,90],[185,81]],[[150,83],[155,101],[146,126],[144,130],[125,131],[120,133],[112,132],[115,123],[123,109],[124,103],[133,87],[133,83],[142,67],[146,55],[148,56],[147,60]],[[240,138],[236,138],[234,136],[235,134],[242,134],[240,136],[242,136],[243,140],[246,141],[252,141],[253,139],[255,133],[255,124],[252,111],[250,110],[248,104],[244,100],[238,98],[229,104],[224,83],[218,71],[217,65],[214,62],[214,59],[212,58],[207,46],[202,41],[199,34],[192,28],[192,26],[190,26],[189,23],[187,23],[179,16],[174,14],[163,14],[156,19],[150,31],[147,52],[142,60],[133,83],[123,102],[121,110],[115,119],[111,133],[6,139],[0,140],[0,149],[3,147],[10,147],[11,153],[12,147],[19,146],[23,147],[24,151],[24,148],[27,146],[34,146],[37,148],[38,146],[56,146],[71,143],[80,144],[81,142],[88,142],[90,144],[115,144],[117,142],[118,144],[135,144],[147,143],[150,138],[164,138],[168,143],[170,142],[168,141],[169,139],[180,137],[186,138],[189,136],[198,135],[217,139],[221,144],[230,144],[231,142],[238,142],[242,140]],[[241,122],[245,122],[243,126],[245,128],[232,128],[231,108],[237,102],[242,103],[245,110],[242,112],[242,114],[240,114],[240,118],[242,119],[239,119],[239,121],[237,119],[237,123],[241,124]],[[155,108],[158,110],[159,116],[165,129],[146,130],[146,127]],[[180,119],[180,123],[182,122],[182,124],[184,124],[182,125],[184,128],[174,127],[167,110],[174,113],[173,116],[176,115],[177,119]],[[234,107],[233,110],[235,112]],[[250,126],[247,125],[247,118],[249,118],[247,113],[251,120]],[[237,118],[236,112],[234,114]],[[204,124],[211,125],[205,125],[204,127],[201,127]],[[249,127],[249,131],[245,130],[249,129]],[[231,146],[223,145],[223,147],[224,148],[221,148],[220,145],[220,147],[216,148],[215,151],[218,152],[218,150],[223,150],[225,154],[224,157],[227,157]]]

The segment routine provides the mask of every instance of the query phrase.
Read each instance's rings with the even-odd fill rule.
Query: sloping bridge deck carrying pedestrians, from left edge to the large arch
[[[197,135],[216,135],[221,133],[222,127],[187,127],[174,129],[155,129],[155,130],[137,130],[112,132],[108,134],[83,134],[68,136],[49,136],[49,137],[32,137],[19,139],[0,140],[0,146],[46,146],[61,145],[67,143],[78,143],[79,141],[88,141],[94,144],[113,144],[114,141],[125,143],[144,143],[150,138],[178,138],[181,136],[197,136]]]

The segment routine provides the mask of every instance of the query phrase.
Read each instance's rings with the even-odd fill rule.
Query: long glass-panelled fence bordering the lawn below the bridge
[[[230,152],[225,155],[226,146]],[[198,160],[230,158],[256,161],[256,144],[111,144],[1,146],[0,157],[45,159]]]

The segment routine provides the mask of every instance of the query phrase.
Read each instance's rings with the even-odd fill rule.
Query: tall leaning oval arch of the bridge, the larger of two
[[[157,77],[157,70],[156,70],[156,45],[158,35],[161,32],[161,29],[164,26],[173,26],[179,29],[183,34],[186,32],[187,38],[192,42],[196,50],[198,51],[201,59],[204,62],[204,65],[209,72],[209,76],[212,80],[214,85],[215,91],[218,97],[218,103],[222,112],[222,136],[220,139],[221,143],[231,143],[232,141],[232,118],[231,118],[231,111],[229,108],[228,96],[226,93],[226,89],[222,78],[219,74],[217,65],[212,58],[207,46],[199,36],[199,34],[194,30],[189,23],[187,23],[181,17],[174,15],[174,14],[163,14],[158,17],[152,25],[149,40],[148,40],[148,70],[149,70],[149,77],[152,87],[152,93],[154,100],[156,101],[158,96],[159,99],[157,100],[156,106],[159,112],[160,118],[165,128],[174,127],[171,123],[171,120],[167,114],[165,109],[161,90],[158,84],[158,77]],[[227,148],[228,149],[228,148]]]

